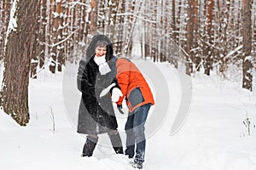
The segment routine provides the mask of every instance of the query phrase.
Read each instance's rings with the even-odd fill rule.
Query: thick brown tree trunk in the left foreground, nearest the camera
[[[9,32],[4,57],[3,88],[0,105],[21,126],[29,122],[29,69],[36,42],[40,0],[14,2],[17,27]]]

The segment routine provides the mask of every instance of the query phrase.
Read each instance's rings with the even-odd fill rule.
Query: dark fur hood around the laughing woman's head
[[[93,57],[95,55],[96,42],[98,42],[98,41],[108,42],[107,54],[106,54],[106,60],[108,61],[111,58],[111,56],[113,55],[113,45],[112,45],[112,42],[109,40],[109,38],[104,35],[96,35],[96,36],[92,37],[90,44],[89,44],[88,48],[86,49],[86,59],[90,59],[91,57]]]

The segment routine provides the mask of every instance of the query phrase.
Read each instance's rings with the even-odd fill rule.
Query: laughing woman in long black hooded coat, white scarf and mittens
[[[79,62],[77,81],[82,99],[79,105],[78,133],[88,134],[82,156],[92,156],[99,133],[108,133],[113,150],[117,154],[123,154],[112,105],[112,102],[119,99],[120,93],[115,78],[115,62],[112,43],[103,35],[92,38],[86,49],[85,59]],[[102,94],[103,89],[109,91]]]

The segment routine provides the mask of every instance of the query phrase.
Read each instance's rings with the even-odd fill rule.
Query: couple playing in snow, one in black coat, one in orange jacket
[[[79,62],[78,88],[82,93],[79,105],[78,133],[87,134],[82,156],[92,156],[97,134],[108,133],[113,150],[124,154],[113,111],[120,112],[126,100],[129,115],[125,123],[125,155],[134,158],[133,167],[143,168],[146,139],[144,124],[154,98],[143,74],[130,60],[113,56],[112,42],[104,35],[92,38],[84,59]]]

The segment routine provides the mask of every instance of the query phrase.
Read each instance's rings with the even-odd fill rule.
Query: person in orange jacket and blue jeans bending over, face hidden
[[[145,157],[145,127],[148,111],[154,105],[154,98],[143,74],[128,59],[117,59],[117,80],[121,88],[122,96],[116,102],[119,111],[122,108],[123,99],[129,108],[129,116],[125,124],[126,150],[125,155],[129,158],[136,156],[131,162],[133,167],[143,168]]]

